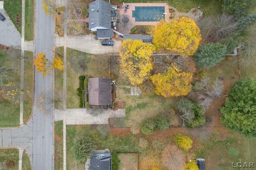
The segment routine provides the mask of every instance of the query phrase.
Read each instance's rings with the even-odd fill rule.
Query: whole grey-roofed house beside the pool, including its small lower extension
[[[89,4],[89,29],[97,32],[98,38],[112,38],[111,4],[96,0]]]

